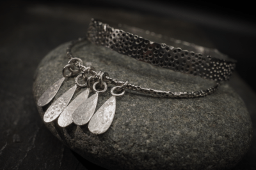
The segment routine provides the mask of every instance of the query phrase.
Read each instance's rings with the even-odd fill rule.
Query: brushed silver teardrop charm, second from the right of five
[[[82,103],[74,111],[72,115],[72,120],[76,125],[87,124],[92,118],[93,113],[95,112],[97,102],[98,102],[99,93],[96,92],[93,96],[89,97],[84,103]]]

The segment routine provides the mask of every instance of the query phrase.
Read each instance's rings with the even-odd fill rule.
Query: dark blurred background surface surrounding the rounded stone
[[[31,92],[33,73],[40,60],[61,43],[84,36],[89,20],[82,16],[83,11],[97,15],[93,9],[102,15],[117,10],[125,11],[127,15],[132,13],[135,17],[150,15],[199,27],[202,36],[211,43],[199,41],[202,38],[195,36],[177,35],[174,38],[203,42],[200,45],[214,46],[238,61],[236,71],[248,85],[237,76],[230,84],[243,98],[255,122],[256,22],[253,1],[1,1],[0,169],[99,168],[52,136],[38,116]],[[148,30],[152,31],[150,28]],[[255,129],[255,124],[253,127]],[[255,159],[254,131],[252,147],[235,169],[256,169]]]

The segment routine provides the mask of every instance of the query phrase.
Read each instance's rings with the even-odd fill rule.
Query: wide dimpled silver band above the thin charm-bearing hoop
[[[236,60],[228,59],[218,50],[192,45],[190,48],[200,49],[206,55],[189,52],[164,43],[154,43],[95,19],[90,22],[88,40],[154,66],[214,81],[229,80],[236,67]]]

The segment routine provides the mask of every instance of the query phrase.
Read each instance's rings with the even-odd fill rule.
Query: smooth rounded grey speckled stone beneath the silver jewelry
[[[35,102],[61,78],[68,62],[67,45],[52,50],[38,66]],[[150,66],[88,42],[77,45],[73,53],[98,71],[141,87],[191,91],[212,85],[209,80]],[[65,80],[53,101],[72,85],[74,78]],[[111,97],[111,87],[99,95],[96,110]],[[83,90],[78,89],[74,97]],[[47,107],[38,107],[41,118]],[[210,96],[193,99],[165,99],[127,90],[124,96],[116,97],[113,123],[100,135],[88,131],[88,125],[62,128],[57,120],[45,125],[69,148],[107,169],[230,169],[246,153],[252,139],[248,111],[228,83],[221,83]]]

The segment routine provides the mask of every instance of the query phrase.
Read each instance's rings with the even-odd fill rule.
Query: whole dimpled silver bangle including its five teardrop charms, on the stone
[[[116,96],[123,96],[125,89],[135,90],[144,94],[153,96],[169,97],[169,98],[189,98],[189,97],[202,97],[212,94],[218,89],[219,81],[228,80],[234,71],[235,61],[232,59],[222,59],[225,55],[216,50],[204,48],[208,53],[219,55],[220,59],[216,56],[202,55],[201,53],[188,52],[180,48],[174,48],[165,44],[154,43],[143,39],[129,32],[124,32],[120,29],[109,27],[108,24],[103,24],[97,20],[92,19],[88,29],[88,39],[97,45],[103,45],[116,52],[128,55],[137,60],[148,62],[155,66],[160,66],[174,71],[180,71],[185,74],[194,76],[201,76],[202,78],[214,80],[216,85],[206,90],[197,92],[170,92],[154,89],[146,89],[137,85],[132,85],[128,81],[118,81],[109,77],[108,73],[102,71],[95,71],[94,67],[86,67],[83,65],[83,60],[74,58],[71,50],[74,45],[80,43],[86,38],[79,38],[67,48],[67,57],[70,59],[67,66],[63,67],[63,78],[56,81],[44,94],[38,99],[38,106],[45,106],[56,96],[61,84],[65,78],[70,76],[76,77],[76,85],[67,90],[61,95],[51,106],[45,111],[44,121],[52,122],[58,118],[58,124],[61,127],[67,125],[85,125],[88,124],[88,129],[94,134],[102,134],[106,132],[115,116],[116,110]],[[181,41],[179,41],[181,42]],[[185,42],[183,42],[185,44]],[[186,43],[188,45],[188,43]],[[195,49],[203,49],[202,46],[191,45]],[[69,71],[70,73],[66,74]],[[80,84],[79,78],[86,80],[86,83]],[[98,102],[99,93],[106,92],[108,84],[115,85],[111,89],[112,96],[106,103],[100,106],[99,110],[95,109]],[[84,92],[79,94],[68,104],[77,89],[87,87]],[[101,88],[102,90],[97,90]],[[92,89],[95,94],[88,98]],[[116,93],[119,90],[120,93]]]

